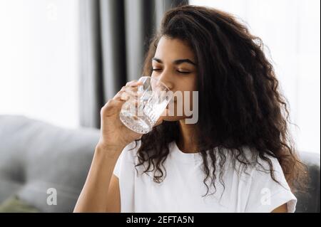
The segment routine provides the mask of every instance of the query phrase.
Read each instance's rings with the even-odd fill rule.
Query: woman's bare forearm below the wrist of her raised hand
[[[113,169],[122,148],[97,145],[86,183],[78,198],[74,212],[105,212]]]

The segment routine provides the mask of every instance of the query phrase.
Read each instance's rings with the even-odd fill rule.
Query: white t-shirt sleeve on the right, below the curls
[[[275,208],[287,204],[287,212],[294,213],[297,198],[292,194],[290,186],[287,184],[280,163],[274,157],[270,157],[270,160],[275,170],[273,171],[275,179],[280,184],[272,179],[267,162],[261,161],[263,167],[253,168],[252,170],[250,196],[245,212],[270,213]]]

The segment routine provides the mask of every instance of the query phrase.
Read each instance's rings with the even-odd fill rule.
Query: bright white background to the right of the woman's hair
[[[190,0],[240,17],[270,48],[298,149],[320,152],[320,0]]]

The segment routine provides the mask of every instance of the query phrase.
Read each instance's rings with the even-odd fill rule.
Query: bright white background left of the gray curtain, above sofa
[[[0,115],[78,127],[78,0],[0,0]]]

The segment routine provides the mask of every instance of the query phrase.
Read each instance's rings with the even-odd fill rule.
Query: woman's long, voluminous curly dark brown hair
[[[161,30],[151,39],[143,75],[152,73],[152,58],[162,36],[187,41],[198,63],[198,148],[208,191],[211,185],[216,191],[218,167],[224,186],[224,150],[232,154],[233,167],[238,162],[246,172],[248,165],[253,164],[245,156],[244,147],[250,147],[254,164],[260,164],[259,158],[268,164],[270,176],[277,181],[269,159],[275,157],[292,191],[304,191],[307,167],[297,156],[288,132],[287,100],[280,92],[272,64],[265,57],[261,39],[223,11],[179,6],[166,12]],[[163,181],[168,144],[178,139],[179,133],[178,122],[163,122],[144,134],[139,139],[136,167],[147,163],[143,173],[153,171],[153,180]]]

